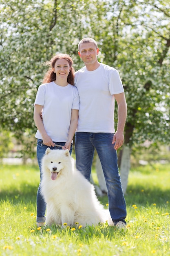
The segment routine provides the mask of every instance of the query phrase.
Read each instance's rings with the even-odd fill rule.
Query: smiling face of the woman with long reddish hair
[[[58,59],[55,62],[53,72],[56,74],[56,79],[66,79],[68,77],[68,74],[71,70],[71,67],[69,66],[68,61],[66,61],[65,58]]]

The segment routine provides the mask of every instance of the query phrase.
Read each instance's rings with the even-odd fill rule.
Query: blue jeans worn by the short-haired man
[[[117,165],[117,151],[112,144],[113,133],[75,133],[76,168],[87,180],[90,180],[94,150],[99,155],[106,186],[108,189],[108,204],[110,216],[116,225],[120,220],[126,223],[126,202],[121,186]]]

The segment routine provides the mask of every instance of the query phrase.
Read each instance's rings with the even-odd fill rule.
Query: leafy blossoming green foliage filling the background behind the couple
[[[33,104],[51,55],[73,56],[85,36],[99,61],[117,68],[128,103],[125,143],[167,143],[169,130],[169,0],[4,0],[0,2],[0,126],[20,141],[35,134]]]

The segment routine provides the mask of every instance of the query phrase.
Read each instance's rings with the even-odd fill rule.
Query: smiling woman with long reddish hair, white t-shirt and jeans
[[[43,84],[39,86],[34,103],[34,121],[38,130],[37,159],[40,168],[46,148],[68,149],[72,152],[72,139],[77,128],[79,94],[74,86],[73,60],[67,54],[57,54],[48,63]],[[62,147],[58,147],[60,145]],[[44,225],[46,203],[37,192],[37,226]]]

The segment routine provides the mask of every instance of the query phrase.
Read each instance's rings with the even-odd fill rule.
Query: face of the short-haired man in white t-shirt
[[[99,48],[96,48],[93,42],[82,43],[78,52],[80,58],[85,64],[93,64],[97,61],[97,55],[99,54]]]

